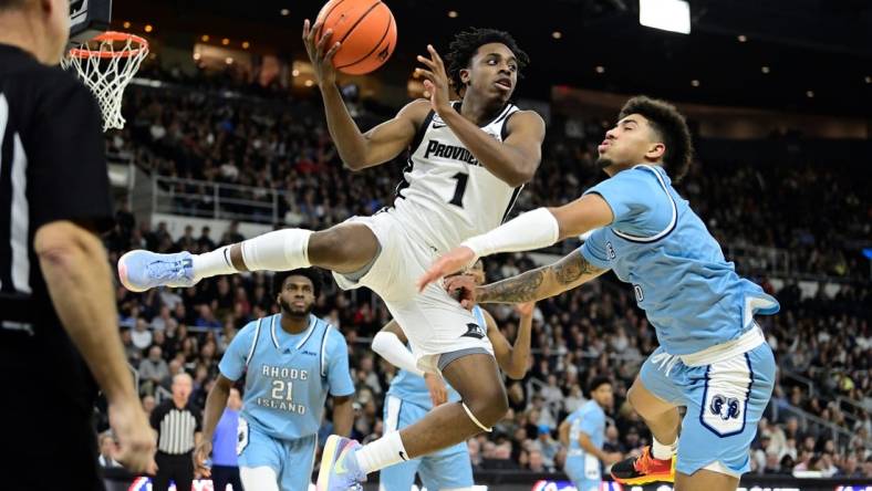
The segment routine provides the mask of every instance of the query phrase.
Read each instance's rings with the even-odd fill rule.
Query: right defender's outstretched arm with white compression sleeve
[[[445,278],[473,264],[477,258],[499,252],[541,249],[568,237],[605,227],[613,219],[614,216],[609,203],[595,194],[582,196],[559,208],[537,208],[487,233],[467,239],[459,247],[448,251],[421,276],[418,290],[423,291],[427,284],[439,278]],[[539,299],[525,299],[512,303]]]

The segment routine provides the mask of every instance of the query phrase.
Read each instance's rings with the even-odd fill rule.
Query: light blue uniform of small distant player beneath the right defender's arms
[[[569,451],[563,470],[579,491],[599,490],[602,482],[600,459],[584,451],[579,436],[584,433],[594,447],[602,449],[605,441],[605,411],[595,400],[589,400],[567,417]]]

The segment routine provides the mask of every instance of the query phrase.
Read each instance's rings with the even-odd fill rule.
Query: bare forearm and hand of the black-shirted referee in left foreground
[[[155,436],[124,358],[103,243],[80,224],[61,220],[37,230],[33,249],[64,330],[106,394],[118,461],[134,472],[154,472]]]

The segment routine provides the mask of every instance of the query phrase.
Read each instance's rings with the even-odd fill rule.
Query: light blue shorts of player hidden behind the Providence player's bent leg
[[[427,415],[427,409],[387,396],[384,405],[385,432],[403,429]],[[427,491],[469,488],[473,485],[473,464],[466,443],[439,450],[418,459],[382,469],[378,480],[382,491],[408,491],[415,483],[415,473]]]

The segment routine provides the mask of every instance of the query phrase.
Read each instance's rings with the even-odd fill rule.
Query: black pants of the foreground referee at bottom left
[[[60,330],[38,328],[31,336],[0,328],[3,491],[105,489],[96,460],[95,386]]]

